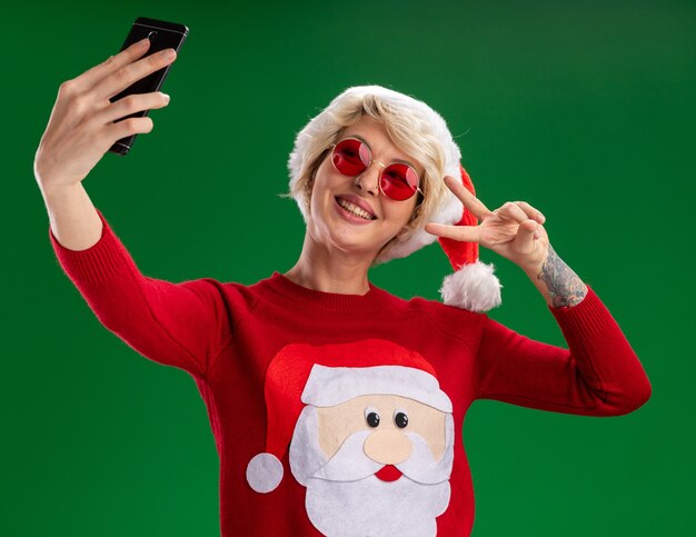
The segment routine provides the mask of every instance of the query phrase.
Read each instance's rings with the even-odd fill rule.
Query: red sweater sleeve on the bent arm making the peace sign
[[[650,382],[612,314],[593,289],[551,311],[568,349],[535,341],[485,317],[477,399],[581,416],[622,416],[652,395]]]

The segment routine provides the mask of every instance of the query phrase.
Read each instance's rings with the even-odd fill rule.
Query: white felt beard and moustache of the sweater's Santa
[[[364,451],[370,431],[350,435],[327,461],[317,435],[316,407],[307,406],[297,420],[290,444],[290,468],[307,487],[306,508],[314,526],[330,537],[430,536],[435,518],[449,505],[454,459],[454,422],[446,420],[446,448],[435,460],[425,439],[408,434],[411,456],[397,468],[396,481],[375,476],[384,465]]]

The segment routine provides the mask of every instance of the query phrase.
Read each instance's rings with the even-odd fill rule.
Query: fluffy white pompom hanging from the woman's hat
[[[500,306],[503,286],[493,270],[493,265],[480,261],[465,265],[443,280],[443,301],[477,314]]]

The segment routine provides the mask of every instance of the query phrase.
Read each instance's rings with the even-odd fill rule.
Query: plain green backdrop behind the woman
[[[653,385],[614,418],[477,401],[464,429],[474,535],[694,535],[694,1],[23,2],[1,8],[3,341],[0,534],[219,534],[218,458],[183,371],[107,331],[57,263],[32,172],[59,84],[117,53],[137,17],[190,34],[171,103],[84,186],[148,276],[252,284],[296,261],[277,195],[296,132],[348,86],[438,110],[490,208],[541,210]],[[565,346],[517,267],[491,317]],[[438,298],[437,246],[371,272]]]

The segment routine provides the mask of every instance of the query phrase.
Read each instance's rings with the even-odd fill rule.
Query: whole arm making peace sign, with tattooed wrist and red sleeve
[[[568,344],[535,341],[485,316],[475,398],[585,416],[618,416],[647,401],[652,387],[638,357],[599,297],[551,248],[544,215],[525,201],[490,211],[460,182],[446,183],[481,223],[426,230],[478,242],[519,266]]]

